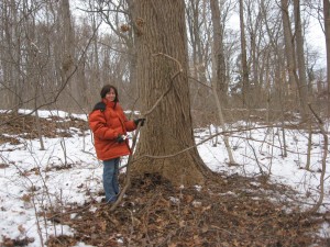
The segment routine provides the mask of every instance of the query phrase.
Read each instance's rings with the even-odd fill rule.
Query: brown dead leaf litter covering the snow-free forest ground
[[[1,114],[0,122],[7,117]],[[32,116],[16,120],[15,125],[2,125],[1,131],[35,137],[29,123],[35,123]],[[77,120],[65,124],[86,128]],[[42,126],[48,136],[58,135],[54,122],[43,121]],[[0,134],[0,144],[16,142]],[[75,246],[79,242],[91,246],[330,246],[330,238],[318,234],[323,223],[330,223],[330,212],[302,214],[298,202],[285,198],[295,198],[295,191],[271,184],[263,177],[219,175],[218,181],[200,188],[177,188],[158,175],[145,175],[132,180],[113,211],[90,200],[84,206],[66,205],[62,209],[65,213],[47,212],[50,221],[75,232],[50,238],[47,246]]]

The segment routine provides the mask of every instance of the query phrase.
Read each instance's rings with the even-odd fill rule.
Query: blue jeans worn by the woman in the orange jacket
[[[120,158],[103,160],[103,188],[107,202],[116,202],[119,193],[119,160]]]

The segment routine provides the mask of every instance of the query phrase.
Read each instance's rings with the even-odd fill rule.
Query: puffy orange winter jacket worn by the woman
[[[89,127],[94,133],[97,157],[100,160],[108,160],[129,155],[131,149],[128,139],[118,143],[117,137],[134,131],[136,125],[127,119],[118,102],[108,102],[105,99],[102,102],[106,105],[101,102],[98,104],[106,106],[106,109],[95,108],[88,117]]]

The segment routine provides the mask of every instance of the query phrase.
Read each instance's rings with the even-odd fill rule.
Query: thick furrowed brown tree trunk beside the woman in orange
[[[160,97],[170,89],[146,115],[146,126],[141,131],[135,153],[138,161],[133,162],[132,175],[157,172],[174,184],[202,184],[209,169],[194,147],[187,78],[185,2],[136,0],[134,4],[136,76],[143,112],[150,111]],[[180,153],[189,147],[191,148]],[[173,156],[177,153],[180,154]]]

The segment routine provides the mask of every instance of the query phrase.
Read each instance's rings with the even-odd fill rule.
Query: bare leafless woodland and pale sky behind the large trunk
[[[2,1],[1,109],[88,112],[105,83],[119,88],[125,109],[139,105],[130,2]],[[187,0],[193,111],[211,121],[210,86],[218,77],[228,121],[246,116],[245,110],[277,117],[304,112],[306,102],[327,112],[327,52],[305,38],[316,24],[324,31],[323,4],[329,2]]]

